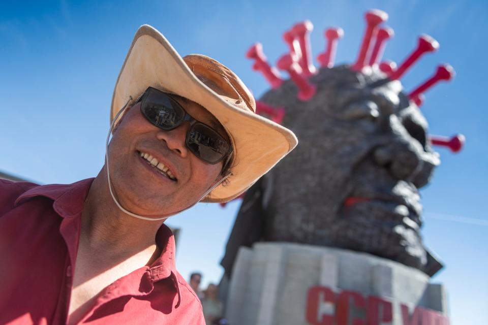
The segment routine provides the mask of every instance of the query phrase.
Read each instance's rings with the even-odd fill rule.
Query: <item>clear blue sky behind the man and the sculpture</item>
[[[431,76],[438,63],[456,70],[450,83],[426,93],[422,111],[430,133],[463,133],[464,150],[439,149],[442,164],[422,189],[423,236],[446,268],[433,281],[449,292],[454,324],[488,323],[488,117],[486,33],[488,3],[481,1],[60,1],[0,4],[0,170],[40,183],[71,183],[96,176],[103,165],[113,86],[137,28],[159,29],[182,54],[202,53],[234,70],[259,98],[268,85],[245,52],[262,42],[271,62],[287,51],[281,35],[310,19],[314,57],[323,30],[345,36],[336,62],[353,62],[364,30],[363,13],[389,14],[395,31],[384,58],[401,62],[422,32],[440,43],[402,79],[407,90]],[[177,265],[187,277],[217,282],[218,265],[238,202],[225,209],[201,204],[168,220],[181,228]]]

